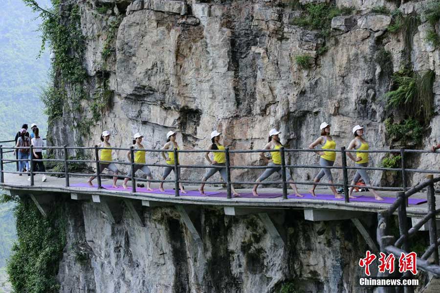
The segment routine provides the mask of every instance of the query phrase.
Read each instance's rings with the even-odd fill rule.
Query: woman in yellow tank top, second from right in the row
[[[331,138],[330,136],[330,124],[327,122],[323,122],[320,125],[321,128],[321,136],[318,137],[312,144],[308,146],[309,149],[313,150],[318,144],[321,144],[322,150],[334,150],[336,148],[336,142]],[[316,154],[320,155],[321,158],[319,159],[319,164],[322,167],[331,167],[334,164],[334,161],[336,159],[336,153],[330,152],[330,151],[318,151]],[[316,175],[315,179],[313,180],[314,183],[319,182],[321,178],[326,175],[327,180],[329,180],[330,184],[333,184],[333,176],[331,175],[331,169],[329,168],[322,168],[321,171],[319,171],[318,175]],[[312,188],[310,189],[310,193],[312,196],[315,195],[315,188],[316,185],[313,184]],[[336,199],[342,199],[343,197],[336,192],[336,188],[331,185],[330,186],[331,192],[333,192],[333,195]]]

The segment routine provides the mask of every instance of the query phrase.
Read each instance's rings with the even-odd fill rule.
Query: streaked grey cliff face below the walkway
[[[141,227],[123,205],[115,224],[96,203],[67,206],[62,293],[262,293],[286,283],[295,292],[364,292],[357,287],[363,273],[357,259],[368,247],[350,221],[329,225],[299,220],[301,212],[273,214],[286,230],[284,246],[258,216],[197,209],[190,215],[198,242],[174,208],[146,210]]]

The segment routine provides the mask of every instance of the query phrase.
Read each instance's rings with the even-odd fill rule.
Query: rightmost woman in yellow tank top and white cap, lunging
[[[359,151],[368,151],[368,148],[369,148],[368,143],[363,137],[364,128],[359,125],[354,126],[353,127],[353,135],[354,135],[354,139],[350,142],[350,145],[347,150],[355,149],[355,150],[359,150]],[[358,152],[358,153],[356,153],[356,157],[354,157],[352,155],[352,153],[347,153],[347,156],[354,161],[356,167],[362,168],[362,167],[368,166],[368,153]],[[357,181],[361,177],[364,180],[365,184],[367,184],[368,186],[371,186],[370,177],[368,176],[367,170],[365,170],[365,169],[357,169],[356,170],[356,174],[354,174],[351,185],[356,184]],[[377,193],[377,191],[375,191],[373,188],[369,187],[369,190],[374,194],[374,198],[376,200],[379,200],[379,201],[383,200],[383,198],[381,198],[379,196],[379,194]],[[352,192],[353,192],[353,187],[350,187],[349,197],[354,198],[352,196]]]

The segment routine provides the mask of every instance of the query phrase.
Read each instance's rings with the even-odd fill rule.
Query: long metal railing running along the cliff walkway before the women
[[[15,159],[6,159],[4,158],[3,154],[10,152],[9,150],[17,150],[17,157]],[[34,185],[34,176],[37,174],[47,174],[47,175],[64,175],[65,179],[66,179],[66,187],[68,187],[70,185],[69,183],[69,177],[70,176],[83,176],[83,177],[88,177],[88,176],[96,176],[97,180],[98,180],[98,188],[102,187],[102,178],[103,177],[118,177],[118,178],[126,178],[126,176],[122,176],[122,175],[106,175],[106,174],[102,174],[99,170],[100,170],[100,164],[103,163],[115,163],[115,164],[122,164],[122,165],[130,165],[131,170],[134,171],[135,169],[135,165],[141,165],[141,166],[154,166],[154,167],[169,167],[170,165],[168,164],[141,164],[141,163],[137,163],[134,162],[134,152],[137,151],[135,150],[133,147],[130,148],[115,148],[115,147],[110,147],[110,148],[103,148],[103,147],[98,147],[98,146],[94,146],[94,147],[68,147],[68,146],[45,146],[45,147],[41,147],[41,149],[44,150],[48,150],[48,149],[56,149],[56,150],[61,150],[63,153],[63,158],[62,159],[36,159],[33,158],[33,156],[30,157],[30,159],[18,159],[18,150],[19,149],[29,149],[29,151],[32,153],[33,152],[33,146],[30,147],[3,147],[2,145],[0,145],[0,181],[1,183],[4,183],[4,174],[5,173],[12,173],[12,174],[23,174],[21,172],[18,172],[18,169],[16,172],[11,172],[11,171],[5,171],[3,168],[3,164],[7,164],[7,163],[12,163],[12,162],[16,162],[17,165],[19,163],[19,161],[30,161],[30,165],[31,166],[31,170],[29,170],[29,175],[30,175],[30,184],[31,186]],[[115,150],[115,151],[127,151],[130,153],[130,158],[131,158],[131,162],[121,162],[121,161],[103,161],[99,159],[98,153],[99,150],[103,150],[103,149],[108,149],[108,150]],[[69,159],[68,158],[68,150],[93,150],[93,157],[94,159]],[[143,149],[143,152],[148,152],[148,153],[162,153],[162,152],[170,152],[171,150],[157,150],[157,149]],[[231,155],[233,154],[249,154],[249,153],[273,153],[273,152],[280,152],[280,156],[281,156],[281,165],[279,165],[279,167],[281,167],[282,170],[282,176],[281,176],[281,181],[263,181],[263,182],[258,182],[258,184],[260,185],[268,185],[268,184],[282,184],[282,193],[283,193],[283,199],[287,199],[287,184],[290,183],[294,183],[294,184],[298,184],[298,185],[320,185],[320,186],[336,186],[336,187],[343,187],[344,189],[344,195],[345,195],[345,202],[349,203],[350,202],[350,198],[349,198],[349,188],[350,187],[359,187],[358,185],[352,185],[349,184],[349,179],[348,179],[348,171],[349,170],[356,170],[356,169],[365,169],[365,170],[379,170],[379,171],[396,171],[396,172],[400,172],[401,176],[402,176],[402,186],[399,187],[380,187],[380,186],[369,186],[369,185],[364,185],[362,187],[366,187],[366,188],[372,188],[375,190],[388,190],[388,191],[407,191],[408,187],[406,185],[406,176],[407,173],[431,173],[431,174],[440,174],[440,171],[436,171],[436,170],[423,170],[423,169],[406,169],[405,168],[405,154],[407,153],[430,153],[430,154],[434,154],[433,152],[430,151],[426,151],[426,150],[405,150],[405,149],[399,149],[399,150],[368,150],[368,151],[359,151],[359,150],[346,150],[345,147],[342,147],[340,150],[325,150],[326,152],[335,152],[335,153],[341,153],[341,158],[342,158],[342,166],[329,166],[329,167],[325,167],[325,166],[320,166],[320,165],[303,165],[303,164],[286,164],[286,154],[288,153],[308,153],[308,152],[317,152],[320,150],[310,150],[310,149],[285,149],[284,147],[281,147],[279,150],[230,150],[228,147],[225,148],[225,150],[173,150],[174,152],[174,156],[175,156],[175,164],[174,164],[174,171],[175,171],[175,180],[149,180],[149,179],[142,179],[142,178],[137,178],[134,175],[134,172],[131,172],[131,180],[132,180],[132,192],[135,193],[136,192],[136,181],[147,181],[147,182],[168,182],[168,183],[175,183],[176,186],[176,196],[179,196],[179,188],[178,185],[179,183],[194,183],[194,184],[200,184],[200,183],[205,183],[205,184],[221,184],[221,183],[226,183],[227,186],[227,198],[231,199],[231,186],[232,184],[243,184],[243,185],[253,185],[256,184],[256,181],[232,181],[231,180],[231,171],[234,169],[246,169],[246,170],[250,170],[250,169],[266,169],[268,168],[267,166],[234,166],[231,165]],[[182,153],[207,153],[207,152],[222,152],[225,154],[225,165],[183,165],[183,164],[179,164],[178,163],[178,157],[179,154]],[[347,154],[348,153],[393,153],[393,154],[399,154],[401,156],[401,167],[399,168],[382,168],[382,167],[349,167],[347,165]],[[437,153],[438,154],[438,153]],[[33,170],[33,165],[36,162],[39,161],[43,161],[43,162],[63,162],[64,163],[64,172],[34,172]],[[96,167],[96,173],[95,174],[83,174],[83,173],[70,173],[69,172],[69,164],[70,163],[93,163]],[[194,180],[182,180],[181,178],[179,178],[179,172],[178,169],[179,168],[201,168],[201,169],[206,169],[206,168],[226,168],[226,174],[227,174],[227,180],[226,182],[222,182],[222,181],[194,181]],[[336,169],[336,170],[342,170],[343,173],[343,181],[342,182],[334,182],[333,184],[330,183],[321,183],[321,182],[311,182],[311,181],[287,181],[286,180],[286,172],[288,171],[289,168],[303,168],[303,169]]]

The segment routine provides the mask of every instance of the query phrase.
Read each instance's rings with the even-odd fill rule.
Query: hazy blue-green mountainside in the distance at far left
[[[2,0],[0,9],[0,140],[14,139],[23,123],[37,123],[45,137],[47,117],[40,94],[47,81],[49,56],[41,48],[39,19],[21,0]],[[49,0],[38,0],[42,6]],[[11,143],[2,143],[10,146]],[[0,204],[0,293],[10,292],[3,267],[16,239],[12,204]]]

